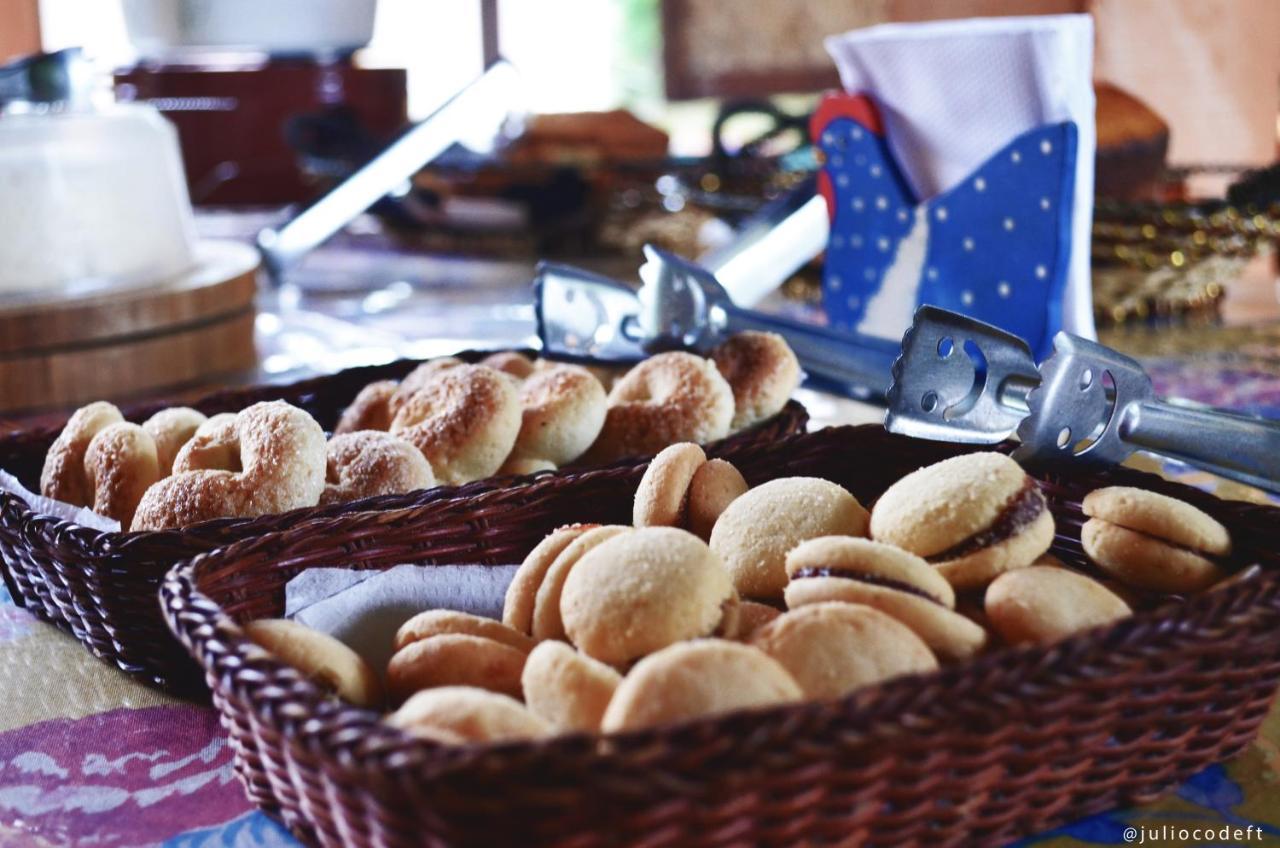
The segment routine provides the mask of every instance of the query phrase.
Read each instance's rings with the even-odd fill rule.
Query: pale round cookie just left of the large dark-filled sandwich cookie
[[[787,551],[819,535],[865,535],[867,510],[828,480],[788,477],[737,497],[712,529],[710,546],[744,598],[778,599]]]

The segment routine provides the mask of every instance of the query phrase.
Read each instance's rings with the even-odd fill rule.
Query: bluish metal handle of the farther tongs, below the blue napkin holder
[[[859,400],[879,398],[888,391],[895,345],[879,347],[824,327],[749,309],[724,307],[724,313],[727,333],[759,330],[786,337],[805,374],[823,388]]]

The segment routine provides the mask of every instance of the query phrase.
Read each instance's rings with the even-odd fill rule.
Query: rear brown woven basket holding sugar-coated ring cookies
[[[476,360],[484,352],[467,351],[458,356]],[[325,430],[330,430],[365,384],[399,379],[419,364],[401,360],[287,386],[225,391],[192,406],[212,415],[238,411],[259,401],[285,400],[307,410]],[[165,406],[169,404],[147,404],[127,410],[125,415],[129,420],[141,421]],[[792,401],[777,416],[724,439],[713,446],[713,451],[731,455],[742,446],[771,443],[790,433],[803,432],[806,423],[804,407]],[[15,475],[28,489],[38,491],[45,453],[60,430],[59,425],[0,437],[0,469]],[[620,465],[631,468],[636,461],[623,460]],[[572,479],[580,473],[568,469],[552,477]],[[335,520],[369,510],[415,510],[436,501],[470,497],[524,482],[527,479],[490,478],[463,487],[438,487],[257,519],[221,519],[155,533],[101,533],[37,514],[17,496],[0,492],[0,571],[15,602],[70,632],[96,656],[148,683],[198,692],[204,688],[200,669],[174,642],[156,603],[160,582],[175,562],[312,519]]]

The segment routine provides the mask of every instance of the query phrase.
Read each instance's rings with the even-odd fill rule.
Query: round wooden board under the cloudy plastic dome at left
[[[253,368],[257,254],[201,245],[166,284],[0,310],[0,412],[127,401]]]

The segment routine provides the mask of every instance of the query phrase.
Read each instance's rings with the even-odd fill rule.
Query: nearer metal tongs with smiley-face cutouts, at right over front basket
[[[922,306],[892,366],[884,427],[995,444],[1015,433],[1023,462],[1116,464],[1138,450],[1280,492],[1280,423],[1156,397],[1133,359],[1069,333],[1037,368],[996,327]]]

